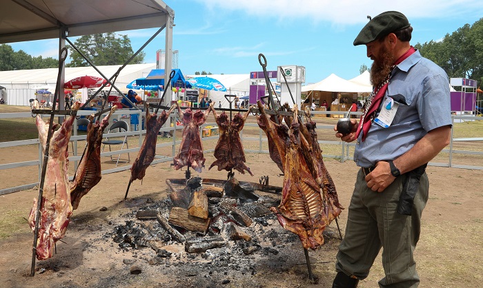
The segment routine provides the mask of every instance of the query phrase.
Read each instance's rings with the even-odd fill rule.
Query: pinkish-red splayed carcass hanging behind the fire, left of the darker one
[[[193,167],[196,172],[201,173],[201,168],[206,159],[203,156],[203,143],[201,143],[201,137],[199,136],[199,125],[205,123],[211,107],[213,107],[213,103],[210,104],[210,107],[204,113],[199,109],[193,113],[190,108],[183,113],[178,106],[179,115],[183,115],[181,122],[184,128],[181,145],[179,145],[179,153],[173,160],[175,169],[178,170],[188,165],[188,167]]]

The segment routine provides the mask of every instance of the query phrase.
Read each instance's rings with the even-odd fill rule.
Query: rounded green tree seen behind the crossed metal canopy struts
[[[126,63],[134,54],[131,41],[127,35],[114,32],[84,35],[75,41],[75,46],[95,65],[120,65]],[[88,62],[77,53],[71,45],[67,45],[72,61],[67,67],[86,67]],[[130,64],[143,63],[145,52],[139,52]]]

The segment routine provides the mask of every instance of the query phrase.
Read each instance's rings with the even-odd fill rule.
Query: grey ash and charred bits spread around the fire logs
[[[125,223],[115,226],[104,238],[112,239],[126,256],[132,254],[134,260],[125,259],[124,264],[136,262],[137,265],[147,263],[149,267],[159,267],[157,273],[173,279],[168,287],[226,287],[235,279],[236,284],[231,282],[231,285],[235,285],[232,287],[264,287],[254,278],[258,273],[273,274],[273,271],[286,271],[293,266],[302,267],[298,269],[306,266],[303,264],[304,249],[298,236],[283,229],[275,214],[268,209],[279,205],[280,196],[258,197],[256,201],[210,198],[210,225],[206,233],[191,232],[172,225],[186,238],[185,243],[176,240],[157,220],[139,220],[136,217],[139,211],[156,211],[168,219],[172,207],[169,197],[122,214],[119,218]],[[239,225],[233,217],[221,212],[219,203],[224,201],[249,216],[253,220],[250,227]],[[258,209],[253,209],[254,206]],[[257,215],[260,214],[259,207],[265,207],[266,214]],[[232,240],[229,232],[232,225],[249,238]],[[335,238],[335,233],[324,232],[324,237],[326,240]],[[206,247],[209,248],[189,253],[188,243],[193,241],[208,243]],[[216,245],[211,247],[211,243]],[[301,279],[306,277],[306,272],[300,276]]]

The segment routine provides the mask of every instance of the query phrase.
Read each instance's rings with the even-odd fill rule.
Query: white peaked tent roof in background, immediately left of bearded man
[[[360,85],[340,78],[335,74],[329,75],[326,79],[312,85],[302,87],[302,92],[307,91],[327,91],[327,92],[371,92],[372,87]]]

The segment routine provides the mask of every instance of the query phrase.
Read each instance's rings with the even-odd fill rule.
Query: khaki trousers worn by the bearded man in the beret
[[[346,236],[337,253],[337,271],[358,279],[366,278],[382,247],[386,276],[379,281],[379,286],[419,285],[413,252],[420,238],[422,210],[428,201],[428,176],[426,173],[421,176],[412,216],[396,212],[403,181],[406,181],[405,175],[397,177],[384,192],[373,192],[359,170],[348,208]]]

